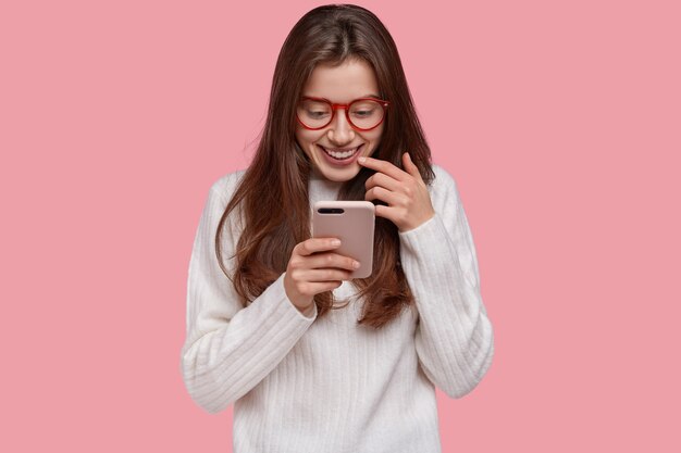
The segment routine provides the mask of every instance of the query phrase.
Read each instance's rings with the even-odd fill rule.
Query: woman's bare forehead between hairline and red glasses
[[[318,65],[302,88],[302,96],[349,102],[369,93],[379,96],[379,84],[371,65],[347,60],[339,66]]]

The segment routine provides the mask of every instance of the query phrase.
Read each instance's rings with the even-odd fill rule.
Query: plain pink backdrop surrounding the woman
[[[444,3],[361,2],[495,327],[480,387],[438,391],[443,450],[681,451],[679,3]],[[231,451],[179,374],[189,253],[318,4],[2,2],[1,451]]]

